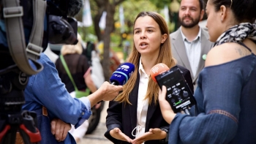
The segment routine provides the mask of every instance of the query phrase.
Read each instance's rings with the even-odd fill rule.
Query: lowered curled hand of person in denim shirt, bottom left
[[[71,125],[61,121],[59,118],[54,118],[50,122],[50,130],[57,141],[61,142],[67,137],[67,132],[71,129]]]

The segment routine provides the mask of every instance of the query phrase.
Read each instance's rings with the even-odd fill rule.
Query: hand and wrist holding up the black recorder
[[[166,97],[166,87],[162,86],[162,91],[159,88],[159,105],[162,113],[162,117],[165,119],[165,121],[170,124],[173,121],[173,118],[175,117],[175,113],[173,113],[172,108],[170,107],[169,102],[165,99]]]

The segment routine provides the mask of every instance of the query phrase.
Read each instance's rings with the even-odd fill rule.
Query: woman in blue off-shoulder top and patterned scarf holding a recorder
[[[215,43],[195,90],[199,114],[173,113],[159,90],[169,143],[256,143],[256,1],[208,0],[206,14]]]

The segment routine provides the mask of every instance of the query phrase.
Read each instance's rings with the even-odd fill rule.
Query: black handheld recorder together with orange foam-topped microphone
[[[196,105],[196,101],[181,70],[177,66],[169,69],[165,64],[157,64],[151,68],[150,75],[160,88],[166,87],[166,100],[173,112],[190,115],[189,108]]]

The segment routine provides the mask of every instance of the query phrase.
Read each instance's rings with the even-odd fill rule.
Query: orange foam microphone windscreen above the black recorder
[[[163,63],[159,63],[159,64],[156,64],[154,67],[152,67],[150,69],[150,75],[152,77],[152,79],[157,82],[156,80],[156,76],[157,75],[160,75],[162,74],[163,72],[166,72],[167,70],[169,70],[169,67],[167,67],[166,64],[163,64]]]

